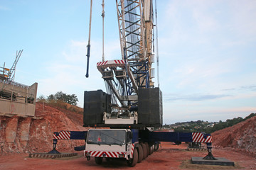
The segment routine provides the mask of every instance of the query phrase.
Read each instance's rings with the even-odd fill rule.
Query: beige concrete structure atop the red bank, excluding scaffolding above
[[[34,116],[37,83],[31,86],[0,79],[0,115]]]

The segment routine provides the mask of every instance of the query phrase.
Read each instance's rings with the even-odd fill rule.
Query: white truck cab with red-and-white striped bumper
[[[132,159],[134,143],[129,129],[90,129],[87,132],[85,157],[95,157],[97,164],[103,158]]]

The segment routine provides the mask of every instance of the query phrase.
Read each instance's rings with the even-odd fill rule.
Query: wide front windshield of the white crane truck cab
[[[87,144],[124,145],[125,130],[89,130]]]

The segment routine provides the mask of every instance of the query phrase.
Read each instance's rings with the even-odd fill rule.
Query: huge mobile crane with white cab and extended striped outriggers
[[[104,6],[104,4],[102,4]],[[154,87],[153,2],[152,0],[116,0],[122,59],[97,62],[107,93],[85,91],[83,124],[92,127],[85,132],[54,132],[53,151],[57,140],[85,140],[87,160],[122,158],[129,166],[142,162],[163,142],[206,142],[211,154],[212,137],[201,132],[154,132],[163,123],[162,93]],[[102,12],[102,17],[104,13]],[[87,52],[90,57],[90,39]],[[104,56],[104,55],[103,55]],[[99,129],[100,128],[100,129]]]

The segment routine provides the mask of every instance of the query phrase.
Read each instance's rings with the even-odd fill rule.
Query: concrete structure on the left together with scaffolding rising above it
[[[0,67],[0,115],[35,115],[37,83],[31,86],[14,81],[16,64],[23,50],[16,52],[11,69]]]

